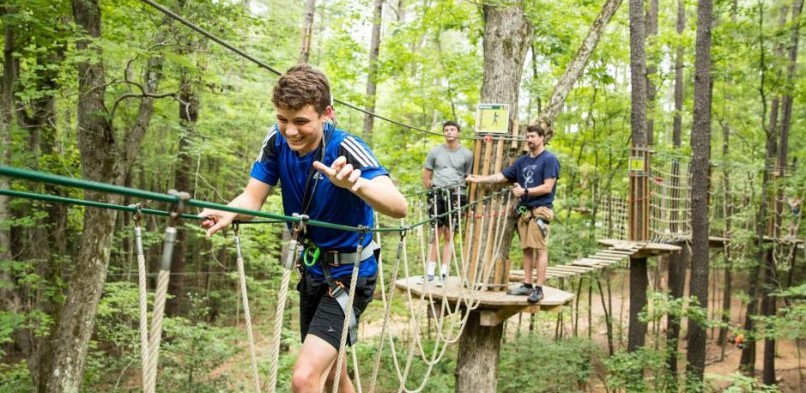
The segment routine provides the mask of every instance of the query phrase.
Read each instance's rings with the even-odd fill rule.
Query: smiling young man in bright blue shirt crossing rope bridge
[[[249,183],[228,206],[260,210],[279,182],[286,215],[305,214],[313,220],[352,227],[372,227],[373,209],[395,218],[406,215],[406,200],[369,147],[333,124],[325,74],[309,65],[292,67],[274,86],[272,102],[277,124],[263,141]],[[202,226],[207,228],[208,237],[235,219],[251,219],[211,209],[199,215],[207,218]],[[300,236],[306,250],[319,251],[310,255],[319,257],[318,261],[311,260],[310,266],[305,264],[297,286],[303,344],[291,384],[294,392],[321,392],[335,377],[345,318],[344,305],[330,294],[329,284],[338,282],[348,290],[352,263],[361,261],[353,303],[357,319],[372,300],[377,246],[372,236],[313,225]],[[356,253],[359,240],[364,247],[360,255]],[[355,343],[348,339],[348,344]],[[339,372],[339,391],[354,392],[346,362]]]

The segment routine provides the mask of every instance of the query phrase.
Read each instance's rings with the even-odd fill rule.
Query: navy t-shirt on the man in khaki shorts
[[[531,188],[542,185],[546,179],[560,178],[560,161],[548,150],[543,150],[536,157],[524,154],[515,162],[505,168],[501,173],[507,180],[516,182],[523,188]],[[557,183],[551,188],[551,193],[533,196],[524,195],[521,197],[519,205],[528,207],[546,206],[553,208],[554,192],[557,190]]]

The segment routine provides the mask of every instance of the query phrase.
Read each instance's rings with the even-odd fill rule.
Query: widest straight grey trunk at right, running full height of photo
[[[691,281],[690,294],[708,307],[708,191],[711,160],[711,0],[697,5],[694,62],[694,126],[691,132]],[[700,321],[688,321],[686,389],[702,391],[706,330]]]

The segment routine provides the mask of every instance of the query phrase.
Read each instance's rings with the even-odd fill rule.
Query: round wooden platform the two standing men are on
[[[447,301],[452,306],[473,296],[470,288],[465,288],[459,277],[448,277],[446,285],[436,286],[433,282],[423,285],[422,277],[401,278],[395,281],[395,287],[399,292],[406,293],[411,290],[412,297],[420,299],[425,294],[423,300],[426,301]],[[511,288],[517,287],[512,285]],[[478,308],[481,313],[482,326],[495,326],[505,321],[517,313],[534,313],[538,311],[556,311],[562,305],[571,302],[573,294],[561,291],[557,288],[543,286],[544,298],[538,304],[530,304],[526,301],[526,296],[511,296],[505,291],[478,291],[476,293]],[[472,300],[472,298],[471,298]]]

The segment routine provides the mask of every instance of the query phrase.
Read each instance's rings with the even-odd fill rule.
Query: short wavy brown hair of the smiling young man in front
[[[297,64],[277,80],[271,102],[278,108],[293,110],[313,105],[321,115],[331,104],[330,83],[322,71],[308,64]]]

